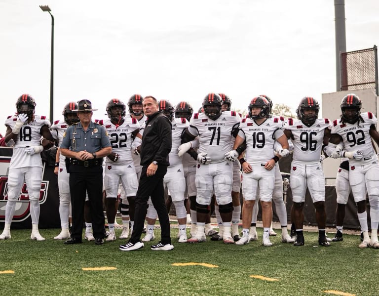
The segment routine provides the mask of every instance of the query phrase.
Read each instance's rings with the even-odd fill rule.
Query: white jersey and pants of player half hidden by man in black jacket
[[[184,192],[186,190],[186,179],[184,178],[184,169],[182,158],[178,156],[178,148],[182,142],[182,133],[189,127],[189,122],[185,118],[174,118],[172,125],[172,146],[168,154],[170,166],[167,167],[167,173],[163,178],[164,187],[168,188],[173,202],[184,201]]]

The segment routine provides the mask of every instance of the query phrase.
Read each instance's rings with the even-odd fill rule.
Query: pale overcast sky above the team
[[[266,94],[296,109],[336,91],[333,0],[0,0],[0,121],[31,94],[49,117],[51,17],[54,120],[69,101],[134,93],[201,106],[224,92],[245,110]],[[347,51],[379,43],[379,1],[345,0]],[[4,134],[5,127],[0,127]]]

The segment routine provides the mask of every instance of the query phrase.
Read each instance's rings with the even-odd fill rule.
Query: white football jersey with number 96
[[[321,149],[324,142],[325,128],[330,125],[329,119],[319,118],[307,127],[301,120],[289,118],[284,129],[291,130],[294,138],[294,161],[320,163]]]

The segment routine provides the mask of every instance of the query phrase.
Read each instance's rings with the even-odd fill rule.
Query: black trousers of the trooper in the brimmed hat
[[[104,238],[103,167],[70,166],[70,194],[73,209],[71,237],[81,240],[84,222],[85,194],[88,193],[93,236]]]

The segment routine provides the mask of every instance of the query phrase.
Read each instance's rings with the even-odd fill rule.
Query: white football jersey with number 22
[[[101,120],[99,124],[103,125],[108,133],[112,152],[119,155],[119,159],[116,162],[107,157],[106,163],[111,163],[113,166],[122,166],[133,161],[130,148],[132,145],[132,132],[141,128],[138,120],[125,116],[124,122],[120,126],[114,125],[110,119]]]

